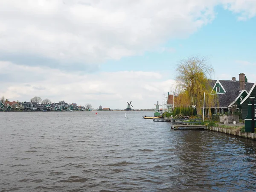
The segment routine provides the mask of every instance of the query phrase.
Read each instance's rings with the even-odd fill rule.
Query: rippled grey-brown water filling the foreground
[[[0,191],[255,191],[256,143],[152,112],[0,113]]]

